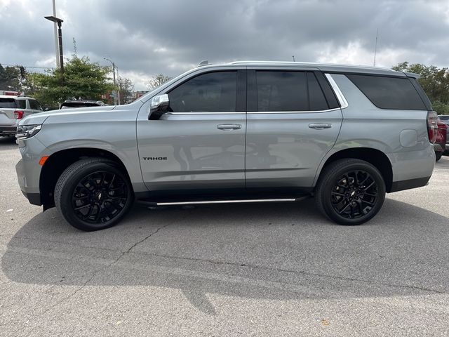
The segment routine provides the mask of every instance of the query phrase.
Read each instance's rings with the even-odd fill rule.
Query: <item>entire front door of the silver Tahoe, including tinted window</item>
[[[246,78],[206,72],[167,92],[170,112],[161,119],[148,120],[148,104],[141,108],[138,149],[149,190],[245,186],[246,112],[238,110],[246,85],[237,91],[237,81]]]

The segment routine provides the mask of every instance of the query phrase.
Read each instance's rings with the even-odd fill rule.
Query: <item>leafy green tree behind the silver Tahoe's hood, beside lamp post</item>
[[[43,105],[58,105],[69,98],[100,100],[101,95],[114,90],[110,84],[108,67],[91,63],[76,54],[65,62],[64,74],[59,69],[47,70],[45,74],[32,73],[27,77],[28,94]]]

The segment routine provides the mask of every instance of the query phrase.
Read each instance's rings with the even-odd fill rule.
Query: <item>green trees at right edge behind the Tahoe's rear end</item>
[[[449,69],[434,65],[402,62],[392,68],[398,72],[413,72],[420,75],[420,85],[431,100],[438,114],[449,114]]]

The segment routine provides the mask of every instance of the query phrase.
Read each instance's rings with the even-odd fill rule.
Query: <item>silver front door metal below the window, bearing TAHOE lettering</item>
[[[221,124],[241,128],[223,131]],[[165,114],[138,121],[142,176],[149,190],[244,187],[246,116]],[[156,158],[156,159],[152,159]]]

